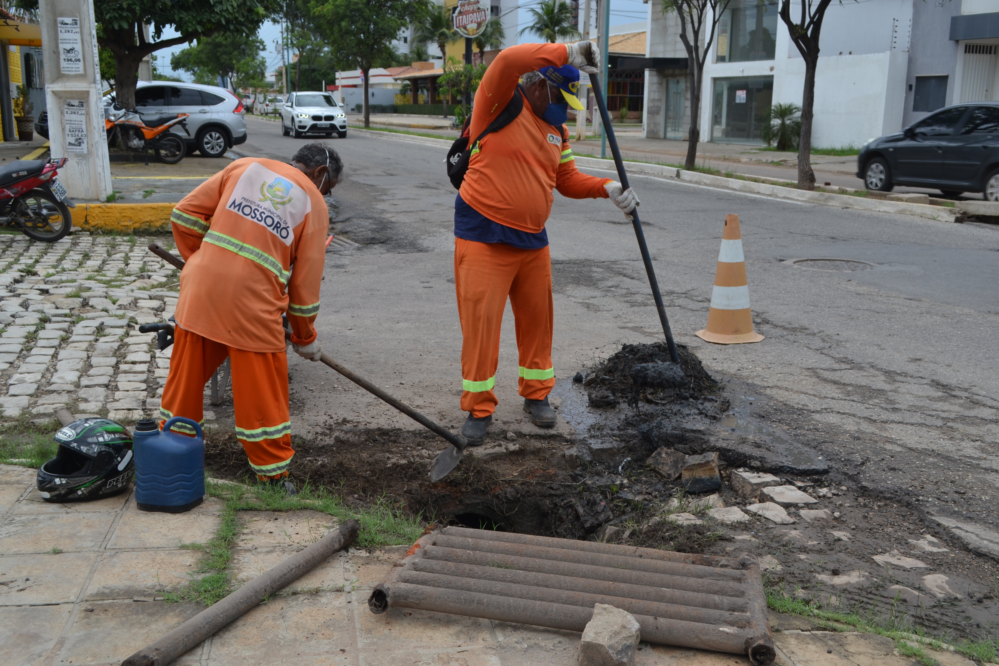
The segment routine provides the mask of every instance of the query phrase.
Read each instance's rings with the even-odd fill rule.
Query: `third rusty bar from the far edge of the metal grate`
[[[662,587],[671,590],[683,590],[687,592],[701,592],[704,594],[717,595],[723,597],[739,598],[743,595],[743,590],[738,584],[733,582],[722,582],[717,580],[702,580],[700,578],[689,578],[686,576],[670,576],[661,573],[649,573],[647,571],[634,571],[631,569],[619,569],[617,567],[592,566],[588,564],[572,564],[569,562],[552,562],[534,557],[517,557],[515,555],[502,555],[497,553],[484,553],[474,550],[457,550],[454,548],[441,548],[440,546],[423,547],[424,558],[441,560],[445,562],[461,562],[463,564],[478,564],[480,566],[499,566],[520,571],[530,571],[534,573],[550,573],[561,576],[578,576],[605,580],[617,583],[632,583],[634,585],[648,585],[649,587]]]

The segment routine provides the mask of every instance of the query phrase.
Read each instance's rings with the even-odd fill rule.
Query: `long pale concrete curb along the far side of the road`
[[[451,148],[453,140],[431,139],[428,137],[415,137],[405,134],[393,134],[391,132],[377,132],[357,128],[361,132],[368,132],[372,136],[380,136],[396,141],[409,141],[411,143],[436,146],[438,148]],[[596,169],[606,169],[614,171],[613,160],[600,158],[576,156],[575,163],[581,167]],[[736,192],[746,192],[759,195],[767,195],[778,199],[791,199],[794,201],[808,202],[811,204],[825,204],[827,206],[838,206],[839,208],[852,208],[861,211],[871,211],[874,213],[895,213],[899,215],[911,215],[927,220],[938,222],[954,222],[959,211],[944,206],[930,206],[928,204],[906,204],[904,202],[890,202],[880,199],[864,199],[862,197],[851,197],[850,195],[837,195],[828,192],[809,192],[807,190],[796,190],[785,188],[779,185],[769,185],[767,183],[756,183],[754,181],[743,181],[737,178],[725,178],[724,176],[711,176],[697,171],[686,171],[667,167],[660,164],[646,164],[644,162],[625,162],[628,173],[643,174],[648,176],[663,176],[666,178],[676,178],[687,183],[703,185],[711,188],[725,188]],[[752,178],[752,177],[749,177]]]

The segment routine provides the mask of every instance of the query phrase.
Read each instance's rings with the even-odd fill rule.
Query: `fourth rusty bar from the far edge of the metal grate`
[[[507,565],[508,566],[508,565]],[[439,573],[450,576],[460,576],[462,578],[479,578],[482,580],[494,580],[501,583],[518,583],[522,585],[533,585],[539,588],[551,588],[556,590],[569,590],[573,592],[585,592],[588,594],[602,594],[605,596],[623,597],[626,599],[643,599],[656,603],[673,604],[676,606],[690,606],[693,608],[709,608],[712,610],[729,611],[733,613],[747,613],[749,602],[746,599],[726,597],[716,594],[700,594],[697,592],[685,592],[673,590],[655,585],[635,585],[632,583],[622,583],[608,580],[594,580],[573,571],[572,576],[555,575],[550,573],[534,573],[519,569],[508,569],[505,566],[482,566],[475,564],[460,564],[455,561],[440,561],[429,559],[426,556],[412,561],[413,571],[424,571],[427,573]],[[661,582],[661,581],[657,581]]]

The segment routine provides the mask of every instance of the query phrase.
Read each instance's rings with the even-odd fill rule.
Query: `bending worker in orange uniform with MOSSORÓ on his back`
[[[295,351],[318,360],[313,323],[330,225],[323,196],[343,169],[336,151],[321,143],[304,146],[291,165],[236,160],[171,215],[187,265],[160,416],[201,422],[205,382],[228,356],[236,436],[257,478],[289,494],[295,493],[287,479],[295,450],[282,316],[288,315]],[[183,424],[172,429],[194,433]]]

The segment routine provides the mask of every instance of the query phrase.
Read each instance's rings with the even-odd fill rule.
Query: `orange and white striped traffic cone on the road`
[[[742,256],[742,234],[739,233],[737,215],[725,216],[707,327],[695,334],[717,344],[758,342],[763,339],[752,328],[749,283],[746,281],[746,262]]]

